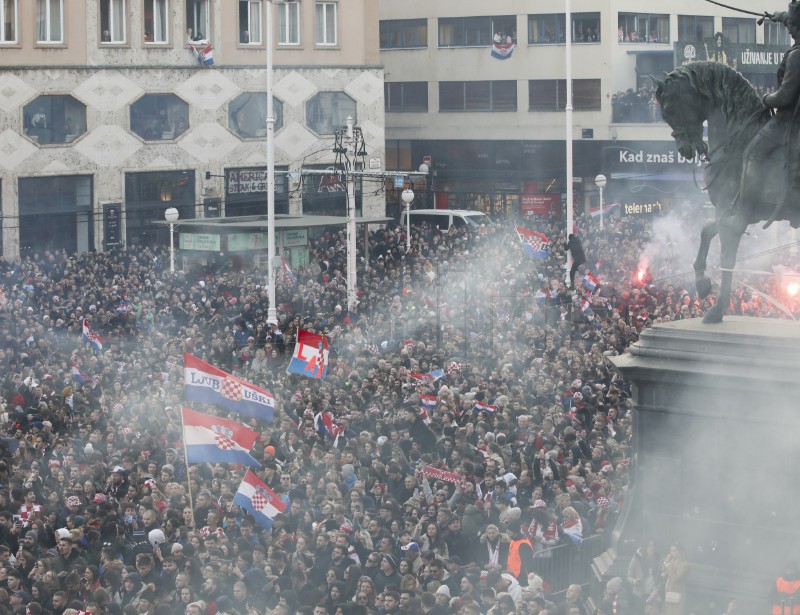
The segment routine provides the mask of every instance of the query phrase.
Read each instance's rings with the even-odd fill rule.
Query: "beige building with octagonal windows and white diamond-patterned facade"
[[[265,214],[268,43],[276,212],[344,215],[335,177],[286,172],[332,167],[348,116],[384,163],[372,0],[1,0],[0,22],[6,257],[167,241],[168,207]]]

